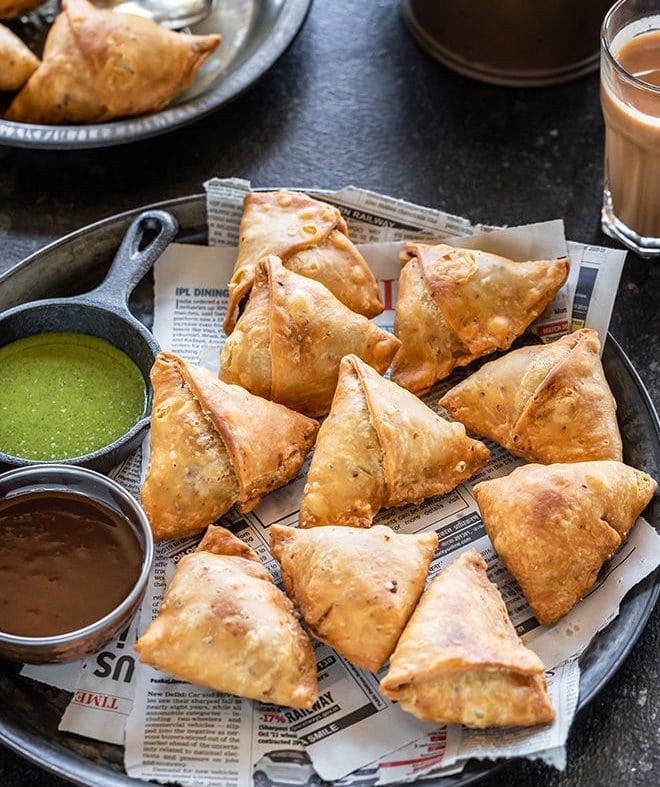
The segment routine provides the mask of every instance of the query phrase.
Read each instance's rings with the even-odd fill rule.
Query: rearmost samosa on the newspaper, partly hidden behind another
[[[243,207],[225,333],[233,331],[254,283],[255,266],[268,254],[279,257],[289,270],[324,284],[357,314],[375,317],[383,311],[378,282],[349,240],[337,208],[299,191],[253,192]]]

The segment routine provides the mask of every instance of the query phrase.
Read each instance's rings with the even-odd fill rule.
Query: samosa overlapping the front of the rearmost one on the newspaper
[[[255,268],[250,299],[225,342],[220,378],[305,415],[330,409],[344,355],[384,372],[399,340],[347,309],[323,284],[278,257]]]

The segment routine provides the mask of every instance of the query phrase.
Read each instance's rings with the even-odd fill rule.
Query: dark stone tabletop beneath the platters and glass
[[[105,150],[0,147],[0,272],[92,221],[199,192],[213,175],[256,186],[353,183],[490,224],[563,217],[567,237],[615,245],[599,228],[602,147],[596,74],[554,88],[483,85],[418,49],[394,0],[316,2],[271,72],[194,125]],[[658,263],[628,255],[611,323],[656,402],[659,277]],[[483,783],[657,783],[659,627],[656,610],[578,715],[565,772],[515,762]],[[0,784],[65,782],[0,750]]]

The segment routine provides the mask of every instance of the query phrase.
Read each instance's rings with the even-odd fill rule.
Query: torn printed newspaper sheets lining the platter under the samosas
[[[250,187],[236,179],[213,180],[206,187],[210,247],[173,245],[158,261],[154,333],[164,348],[217,371],[227,284],[236,256],[242,202]],[[379,279],[386,309],[376,322],[389,330],[397,297],[401,241],[416,237],[442,239],[521,260],[560,257],[568,252],[569,280],[536,321],[535,331],[547,341],[587,326],[595,328],[601,340],[605,338],[625,254],[566,243],[560,220],[499,230],[473,227],[461,217],[354,187],[318,196],[340,208],[351,237],[360,244]],[[438,395],[436,387],[425,401],[436,407]],[[122,742],[125,735],[126,771],[143,779],[200,787],[246,785],[260,771],[271,778],[278,769],[282,773],[282,769],[297,768],[303,777],[308,773],[309,784],[316,783],[315,773],[323,779],[341,779],[342,785],[357,784],[358,780],[360,784],[389,784],[429,772],[446,772],[447,768],[455,772],[469,757],[541,757],[561,768],[577,705],[577,656],[616,616],[628,589],[660,562],[660,538],[646,523],[638,523],[611,561],[601,586],[554,627],[539,626],[517,584],[497,559],[472,496],[477,481],[504,475],[522,464],[500,447],[489,447],[491,462],[468,483],[419,506],[383,511],[376,522],[400,532],[438,532],[440,546],[430,577],[469,546],[480,550],[518,633],[541,655],[548,670],[549,691],[557,711],[552,725],[540,730],[475,731],[421,722],[379,693],[380,675],[356,669],[321,643],[315,643],[319,701],[311,711],[218,694],[137,663],[128,644],[156,614],[176,562],[194,549],[194,539],[158,547],[153,581],[139,619],[116,643],[66,670],[26,667],[22,674],[74,691],[60,729],[115,743]],[[118,476],[133,491],[139,486],[139,464],[137,457]],[[297,479],[266,497],[254,512],[223,518],[224,524],[233,526],[257,551],[276,580],[279,567],[268,551],[268,531],[274,522],[296,524],[307,466]],[[57,674],[51,673],[57,670]]]

